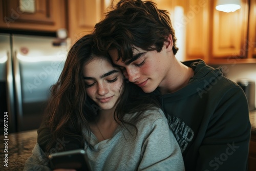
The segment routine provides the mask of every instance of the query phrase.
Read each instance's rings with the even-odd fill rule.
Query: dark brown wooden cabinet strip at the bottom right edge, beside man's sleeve
[[[250,147],[248,156],[248,171],[256,170],[256,135],[251,134]]]

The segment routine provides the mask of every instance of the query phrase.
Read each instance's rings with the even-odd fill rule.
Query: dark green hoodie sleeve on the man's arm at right
[[[240,87],[232,87],[210,119],[196,170],[246,170],[250,130],[246,96]]]

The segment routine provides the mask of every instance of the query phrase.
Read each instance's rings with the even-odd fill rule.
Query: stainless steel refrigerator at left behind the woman
[[[50,87],[67,56],[66,44],[56,38],[0,34],[0,129],[8,112],[8,133],[37,129]]]

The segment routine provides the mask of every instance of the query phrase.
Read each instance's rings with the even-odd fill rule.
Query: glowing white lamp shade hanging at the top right
[[[216,9],[223,12],[234,12],[240,8],[240,0],[218,0],[216,5]]]

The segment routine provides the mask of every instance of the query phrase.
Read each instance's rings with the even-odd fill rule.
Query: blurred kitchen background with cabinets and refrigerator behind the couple
[[[152,1],[170,13],[180,61],[201,58],[222,67],[234,82],[256,81],[256,0]],[[229,13],[216,9],[226,1],[241,8]],[[17,161],[10,166],[22,168],[31,155],[50,86],[69,48],[93,30],[111,4],[112,0],[0,0],[0,135],[8,112],[8,133],[14,133],[9,136],[13,140],[8,155]],[[255,99],[251,87],[246,95]],[[256,170],[255,102],[249,114],[249,170]]]

